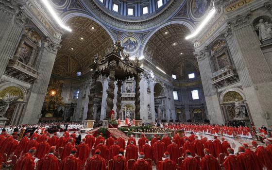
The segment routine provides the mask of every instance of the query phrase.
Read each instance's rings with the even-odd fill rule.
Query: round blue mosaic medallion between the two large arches
[[[124,47],[124,51],[133,53],[138,50],[139,43],[138,40],[134,36],[126,36],[121,41],[122,47]]]

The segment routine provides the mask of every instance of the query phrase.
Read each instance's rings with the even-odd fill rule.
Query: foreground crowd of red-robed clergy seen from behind
[[[87,134],[76,141],[76,133],[63,136],[46,131],[0,135],[0,167],[13,170],[272,170],[272,139],[266,147],[254,140],[254,150],[244,143],[234,152],[224,137],[214,139],[190,133],[154,135],[149,141],[144,134],[136,142],[134,136],[125,141],[111,136]],[[11,160],[11,161],[9,161]]]

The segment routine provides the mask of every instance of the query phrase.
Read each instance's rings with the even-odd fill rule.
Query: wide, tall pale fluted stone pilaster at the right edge
[[[225,35],[255,126],[270,126],[272,73],[250,17],[247,13],[228,20]]]

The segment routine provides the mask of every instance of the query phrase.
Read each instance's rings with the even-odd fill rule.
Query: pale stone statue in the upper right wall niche
[[[255,30],[258,31],[260,41],[272,38],[272,24],[264,22],[263,19],[260,19],[259,23],[255,25]]]

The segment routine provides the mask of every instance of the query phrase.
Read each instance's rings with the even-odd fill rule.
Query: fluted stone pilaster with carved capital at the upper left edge
[[[24,1],[0,0],[0,80],[29,20],[22,11]]]

